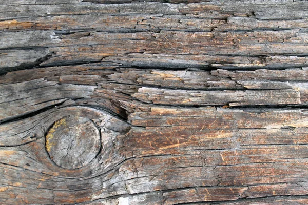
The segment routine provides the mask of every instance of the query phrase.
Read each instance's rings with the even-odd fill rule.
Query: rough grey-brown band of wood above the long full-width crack
[[[280,6],[281,9],[288,8],[290,12],[295,12],[298,9],[304,8],[306,4],[300,4],[301,6],[299,7],[299,4],[296,3],[288,1],[276,1],[275,3],[254,2],[254,4],[251,4],[249,2],[225,2],[224,4],[218,2],[205,2],[203,4],[167,4],[145,2],[114,5],[93,5],[85,2],[81,4],[80,1],[74,1],[70,2],[70,4],[43,4],[40,2],[25,2],[23,5],[20,5],[19,9],[18,6],[16,6],[17,3],[6,2],[5,4],[3,4],[3,11],[5,11],[3,12],[3,15],[5,15],[5,17],[11,15],[12,18],[9,20],[5,20],[4,18],[3,21],[0,23],[2,25],[0,28],[2,28],[4,31],[9,31],[10,29],[12,29],[12,31],[23,32],[14,33],[13,36],[11,34],[3,34],[3,38],[7,38],[6,36],[11,36],[14,39],[17,39],[17,35],[21,38],[25,37],[25,35],[29,35],[28,39],[30,40],[24,40],[22,44],[18,40],[3,41],[4,44],[7,44],[4,47],[15,48],[15,46],[18,46],[18,48],[32,48],[38,46],[38,44],[40,44],[41,46],[56,46],[53,45],[53,43],[56,43],[55,41],[57,41],[57,45],[63,46],[63,44],[66,44],[65,42],[70,45],[69,47],[59,48],[60,51],[56,48],[50,50],[50,53],[54,52],[53,55],[56,56],[56,58],[54,59],[52,56],[48,56],[48,58],[51,59],[49,59],[46,63],[49,62],[55,64],[57,61],[60,61],[57,62],[57,64],[63,65],[67,63],[80,63],[84,60],[100,61],[102,60],[102,58],[105,58],[103,59],[104,61],[114,61],[115,63],[125,62],[125,64],[128,64],[129,61],[135,61],[135,65],[137,63],[139,66],[149,66],[149,63],[144,62],[144,60],[138,59],[138,61],[136,62],[136,58],[130,59],[130,57],[132,56],[128,57],[119,49],[111,49],[108,46],[110,44],[106,44],[106,40],[112,41],[114,39],[117,39],[117,41],[114,41],[114,43],[111,43],[111,45],[122,44],[123,47],[119,48],[121,50],[130,48],[130,50],[127,50],[127,52],[130,53],[146,52],[147,55],[145,55],[146,53],[144,53],[144,55],[140,56],[142,58],[145,58],[145,56],[148,56],[149,53],[153,52],[149,50],[150,48],[152,50],[155,49],[155,54],[169,53],[170,55],[170,52],[177,55],[190,54],[191,56],[184,55],[178,57],[185,58],[186,62],[187,60],[195,61],[193,65],[201,68],[204,66],[213,66],[219,68],[277,68],[278,66],[283,67],[280,58],[284,58],[285,64],[288,64],[287,66],[306,66],[305,57],[301,57],[301,55],[306,53],[306,47],[302,43],[306,42],[307,37],[305,35],[305,31],[301,30],[302,28],[306,27],[304,20],[288,19],[286,21],[281,21],[274,19],[267,22],[258,19],[259,17],[256,16],[256,14],[258,12],[260,13],[261,10],[262,12],[278,12],[275,10],[277,6]],[[29,5],[31,5],[31,7],[29,7]],[[64,8],[66,5],[70,5],[71,8],[74,8],[70,9],[69,15],[67,15],[68,13],[64,12]],[[87,7],[87,11],[82,9],[83,7]],[[9,14],[10,12],[8,12],[8,10],[10,9],[12,9],[11,14]],[[220,17],[218,17],[218,14],[214,14],[215,12],[213,11],[222,12],[222,14]],[[23,12],[24,16],[22,16]],[[31,14],[31,12],[33,12],[33,14]],[[40,12],[42,13],[40,14]],[[74,15],[77,13],[78,15]],[[101,15],[102,13],[109,13],[112,15]],[[136,13],[138,15],[130,15],[133,13]],[[297,13],[299,14],[299,16],[296,18],[303,17],[300,12]],[[213,16],[202,16],[204,14],[213,14]],[[252,14],[254,14],[255,16]],[[48,17],[44,17],[45,15]],[[164,15],[169,16],[164,17]],[[247,15],[249,17],[247,17]],[[277,14],[273,15],[279,16],[280,14],[278,12]],[[293,15],[293,17],[295,16],[296,15]],[[226,18],[228,18],[227,21],[225,20]],[[262,18],[265,17],[263,16]],[[283,18],[285,18],[285,16],[283,16]],[[246,22],[246,24],[249,25],[249,28],[248,26],[246,26],[247,28],[245,29],[243,29],[242,27],[237,27],[236,25],[239,24],[238,20]],[[252,23],[248,23],[249,21],[252,21]],[[48,36],[46,36],[45,34],[47,34],[49,31],[31,31],[33,29],[52,30],[50,32],[57,32],[56,35],[53,33],[52,35],[50,35],[50,38],[48,38]],[[267,31],[262,31],[262,29],[265,29]],[[28,30],[28,34],[25,33],[24,30]],[[122,33],[117,34],[117,36],[115,37],[112,33],[106,34],[102,32],[95,32],[97,30],[105,30],[112,32],[146,31],[146,33],[149,34],[136,34],[140,37],[136,38],[133,36],[135,34]],[[65,33],[70,33],[71,31],[83,32],[79,34],[74,33],[70,35],[63,35]],[[171,31],[173,31],[173,33],[175,34],[172,34]],[[191,33],[187,33],[185,31],[207,31],[208,33],[204,32],[202,35],[197,35],[197,33],[194,33],[194,35],[191,35]],[[225,31],[227,31],[227,33],[225,33]],[[157,34],[155,32],[161,32],[161,34]],[[37,35],[38,38],[47,38],[46,40],[41,40],[41,43],[37,43],[35,42],[35,40],[32,40],[31,43],[31,36],[34,35],[34,33],[35,35]],[[102,37],[105,40],[101,39]],[[153,37],[155,37],[156,40],[153,40]],[[191,37],[194,38],[193,41],[187,39]],[[69,38],[72,39],[69,40]],[[94,42],[92,42],[93,38],[96,39]],[[24,39],[27,39],[27,37],[25,37]],[[120,41],[121,39],[123,39],[122,42]],[[136,42],[132,42],[132,40],[137,39],[141,40],[141,42],[138,42],[136,45],[138,47],[144,47],[147,49],[145,49],[144,51],[136,50],[136,48],[133,49],[133,43]],[[183,42],[181,42],[182,39],[186,39],[186,43],[184,45]],[[61,42],[59,42],[59,40],[61,40]],[[148,43],[142,42],[142,40],[148,40]],[[53,43],[51,43],[51,41]],[[91,45],[98,46],[82,46],[82,49],[76,49],[75,46],[73,46],[74,44],[72,44],[72,41],[76,44],[89,43]],[[172,44],[170,44],[168,41],[171,41]],[[12,42],[15,42],[15,46],[13,44],[10,45]],[[99,46],[101,44],[103,44],[104,47]],[[172,46],[173,49],[170,50],[170,46]],[[166,49],[165,47],[169,48]],[[292,49],[290,49],[291,47]],[[112,59],[112,56],[115,55],[115,53],[109,53],[107,52],[107,50],[109,52],[113,50],[117,55],[120,55],[122,53],[123,56],[119,56],[118,59]],[[95,56],[93,56],[93,52],[96,53]],[[198,52],[202,52],[203,54],[207,55],[217,54],[221,56],[232,54],[240,56],[237,57],[237,60],[239,61],[234,61],[233,59],[224,59],[226,57],[230,58],[230,56],[215,56],[213,61],[211,62],[211,60],[208,58],[196,60],[196,58],[200,58],[198,56]],[[281,56],[277,58],[275,56],[290,54],[294,55],[296,59]],[[15,53],[15,55],[16,57],[14,57],[14,61],[12,62],[12,60],[9,60],[5,64],[3,63],[3,67],[11,67],[15,64],[16,66],[19,66],[20,64],[17,63],[19,59],[19,54]],[[255,55],[271,55],[271,57],[255,57]],[[45,56],[46,55],[42,57]],[[185,67],[186,65],[184,65],[184,61],[178,61],[178,57],[170,55],[170,61],[173,62],[169,61],[169,63],[174,64],[174,67]],[[34,61],[37,60],[38,58],[36,58]],[[155,67],[159,65],[159,62],[153,63],[152,59],[150,61],[151,66]],[[29,61],[26,61],[25,63],[29,63]],[[41,62],[36,62],[35,65],[38,65],[40,63]],[[213,65],[209,65],[208,63]],[[166,66],[166,64],[164,64],[164,66]],[[14,69],[20,68],[17,67]]]

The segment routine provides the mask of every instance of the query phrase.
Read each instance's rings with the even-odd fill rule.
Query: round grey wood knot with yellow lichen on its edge
[[[100,152],[100,130],[88,118],[66,116],[55,121],[48,130],[45,146],[56,165],[66,169],[81,168]]]

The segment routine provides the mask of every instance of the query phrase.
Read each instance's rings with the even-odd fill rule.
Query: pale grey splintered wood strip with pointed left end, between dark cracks
[[[142,87],[133,97],[159,105],[287,105],[301,104],[300,92],[285,90],[190,91]]]

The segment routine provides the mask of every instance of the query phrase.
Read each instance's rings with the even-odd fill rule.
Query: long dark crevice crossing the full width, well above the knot
[[[23,48],[25,49],[25,48]],[[30,49],[30,48],[29,48]],[[33,49],[33,47],[31,47]],[[131,53],[128,53],[131,54]],[[215,64],[219,65],[214,65],[214,63],[205,63],[205,64],[198,64],[196,63],[190,63],[189,64],[183,64],[183,63],[174,63],[172,61],[166,62],[166,63],[160,63],[160,62],[145,62],[140,59],[140,61],[136,61],[136,63],[125,63],[122,60],[107,60],[104,61],[104,58],[100,60],[71,60],[71,61],[57,61],[57,62],[51,62],[51,63],[46,63],[44,65],[41,65],[44,61],[49,60],[54,53],[49,53],[39,59],[37,59],[33,63],[24,63],[16,67],[4,67],[0,68],[0,76],[4,75],[8,72],[12,71],[18,71],[18,70],[26,70],[26,69],[33,69],[33,68],[46,68],[46,67],[57,67],[57,66],[78,66],[78,65],[83,65],[83,64],[91,64],[91,63],[112,63],[112,64],[119,64],[122,68],[136,68],[140,70],[144,69],[153,69],[153,70],[170,70],[170,71],[179,71],[179,70],[187,70],[187,71],[215,71],[218,69],[222,70],[230,70],[230,71],[255,71],[255,70],[260,70],[260,69],[267,69],[267,70],[286,70],[286,69],[301,69],[302,67],[306,67],[308,65],[302,64],[302,65],[266,65],[264,67],[260,66],[246,66],[246,67],[238,67],[238,66],[233,66],[235,63],[222,63],[222,62],[216,62]],[[191,54],[179,54],[178,56],[183,56],[183,55],[191,55]],[[177,55],[175,55],[177,56]],[[262,55],[217,55],[217,56],[226,56],[226,57],[236,57],[236,56],[241,56],[241,57],[258,57],[258,58],[264,58]],[[269,56],[269,55],[268,55]],[[284,55],[280,55],[284,56]],[[304,55],[297,55],[300,57],[307,56],[306,54]],[[120,63],[119,63],[120,62]],[[125,65],[126,64],[126,65]],[[220,66],[221,65],[221,66]]]

